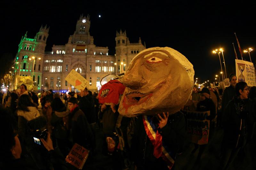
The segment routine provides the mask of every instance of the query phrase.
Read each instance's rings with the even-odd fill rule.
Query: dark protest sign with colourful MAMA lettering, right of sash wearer
[[[210,111],[183,111],[183,113],[187,120],[187,134],[189,140],[195,144],[207,144],[210,120],[206,120],[206,117],[210,115]]]

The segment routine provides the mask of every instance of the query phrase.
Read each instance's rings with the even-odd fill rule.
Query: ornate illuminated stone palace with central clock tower
[[[70,35],[68,42],[65,45],[53,45],[50,52],[44,52],[49,28],[41,27],[34,39],[28,39],[26,33],[20,42],[17,54],[19,57],[17,62],[22,67],[20,75],[32,76],[31,61],[34,60],[29,58],[34,56],[34,81],[39,82],[38,87],[42,85],[42,89],[45,90],[74,91],[74,87],[65,81],[65,77],[74,69],[90,82],[87,88],[97,92],[101,87],[101,78],[108,74],[125,72],[132,58],[145,49],[141,40],[139,43],[130,43],[125,31],[121,31],[116,32],[116,55],[109,55],[108,47],[97,47],[93,43],[89,29],[90,17],[81,15],[76,30]]]

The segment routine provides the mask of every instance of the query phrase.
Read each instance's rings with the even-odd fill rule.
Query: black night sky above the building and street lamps
[[[256,48],[256,1],[5,1],[1,2],[1,60],[10,60],[18,50],[21,36],[34,38],[41,25],[50,26],[46,51],[65,45],[81,14],[90,15],[94,44],[115,54],[116,31],[126,30],[130,42],[141,37],[146,47],[171,47],[194,65],[195,77],[213,81],[220,72],[220,60],[212,54],[224,48],[227,74],[235,73],[236,37],[242,49]],[[99,18],[99,15],[101,17]],[[256,51],[252,51],[254,61]],[[249,61],[248,53],[243,53]],[[223,65],[224,69],[224,65]],[[224,71],[224,70],[223,70]]]

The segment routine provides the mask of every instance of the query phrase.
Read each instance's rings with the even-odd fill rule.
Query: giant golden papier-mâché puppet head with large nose
[[[123,78],[126,86],[121,115],[176,113],[193,87],[194,70],[185,56],[172,48],[148,48],[134,57]]]

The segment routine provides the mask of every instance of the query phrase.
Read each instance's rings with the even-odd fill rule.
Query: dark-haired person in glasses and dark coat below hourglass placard
[[[248,101],[248,86],[245,82],[238,82],[235,87],[236,95],[225,108],[222,124],[223,135],[223,157],[219,169],[228,169],[237,153],[246,144],[253,127],[255,113]]]

